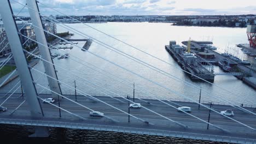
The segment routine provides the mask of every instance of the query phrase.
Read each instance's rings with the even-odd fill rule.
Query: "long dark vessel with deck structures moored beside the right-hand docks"
[[[176,41],[170,41],[170,45],[166,45],[165,49],[168,53],[174,58],[175,61],[181,65],[182,69],[188,71],[190,74],[191,80],[207,80],[214,81],[214,71],[209,71],[200,62],[197,62],[198,58],[194,55],[194,53],[190,53],[190,49],[188,51],[180,45],[176,44]]]

